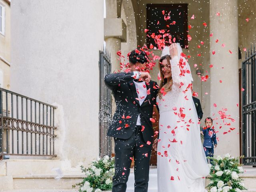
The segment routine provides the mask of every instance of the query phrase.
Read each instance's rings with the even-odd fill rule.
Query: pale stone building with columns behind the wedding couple
[[[214,120],[219,139],[215,154],[244,154],[252,159],[248,164],[256,164],[256,127],[252,121],[256,112],[250,108],[250,114],[242,113],[239,94],[242,61],[250,57],[245,56],[244,48],[256,42],[255,5],[255,1],[245,4],[243,0],[106,0],[104,18],[103,0],[78,0],[72,4],[62,0],[12,0],[10,19],[10,2],[0,0],[5,12],[1,14],[1,22],[5,23],[1,30],[5,30],[0,32],[2,87],[8,89],[11,85],[11,91],[21,94],[12,102],[14,106],[8,103],[12,93],[2,96],[2,102],[9,119],[34,125],[11,130],[10,124],[2,124],[9,127],[2,128],[8,133],[3,135],[4,143],[14,140],[6,147],[16,147],[9,152],[2,148],[10,159],[0,162],[0,179],[5,181],[0,183],[0,190],[68,189],[81,180],[82,174],[73,172],[77,173],[81,164],[86,166],[99,155],[114,153],[111,139],[106,138],[114,105],[104,86],[104,75],[120,70],[116,54],[119,50],[126,55],[138,46],[154,45],[147,34],[167,30],[162,10],[176,13],[168,20],[173,25],[169,25],[176,32],[172,36],[190,55],[193,88],[201,100],[203,119],[218,117]],[[161,55],[160,50],[150,51]],[[250,55],[255,56],[254,52]],[[157,67],[151,74],[158,81]],[[206,75],[209,78],[202,81]],[[255,81],[250,81],[255,73],[251,75],[244,74],[248,85],[254,85],[250,93],[255,90]],[[35,100],[31,102],[31,98]],[[247,103],[252,104],[248,106],[253,106],[255,98],[248,98]],[[10,117],[14,114],[11,108],[19,115]],[[100,119],[99,114],[103,114]],[[249,120],[240,123],[242,115]],[[240,129],[242,124],[245,132]],[[54,180],[56,173],[62,177],[61,184]]]

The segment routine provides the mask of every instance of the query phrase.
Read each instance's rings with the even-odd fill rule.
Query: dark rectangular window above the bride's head
[[[170,19],[167,19],[168,14]],[[180,43],[182,48],[187,48],[188,4],[147,4],[147,29],[148,47],[150,44],[157,47],[154,39],[149,36],[152,33],[159,35],[160,32],[158,30],[165,30],[165,33],[169,33],[172,39],[175,38],[175,42]],[[168,37],[165,40],[168,41]],[[166,43],[166,45],[169,44]]]

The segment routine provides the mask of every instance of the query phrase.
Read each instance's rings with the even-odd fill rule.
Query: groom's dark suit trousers
[[[114,138],[115,141],[115,176],[112,192],[125,192],[134,158],[134,192],[147,192],[152,143],[143,139],[141,126],[136,126],[128,139]]]

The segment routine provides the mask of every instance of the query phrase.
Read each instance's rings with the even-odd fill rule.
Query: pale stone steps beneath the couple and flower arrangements
[[[60,160],[3,160],[0,161],[0,192],[76,192],[72,185],[80,182],[84,174],[78,169],[66,170]],[[256,168],[244,167],[244,184],[256,192]],[[206,185],[209,179],[206,179]],[[134,192],[134,170],[126,192]],[[148,192],[157,192],[157,169],[150,168]]]

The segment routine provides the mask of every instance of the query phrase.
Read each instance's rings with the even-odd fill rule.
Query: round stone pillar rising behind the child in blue
[[[220,16],[216,15],[218,12]],[[214,120],[214,126],[219,131],[217,137],[220,140],[215,154],[229,153],[237,157],[240,155],[239,108],[236,106],[239,103],[237,0],[210,0],[210,33],[213,33],[210,37],[210,64],[213,64],[210,69],[210,109],[212,118],[218,117],[218,120]],[[215,54],[212,54],[213,51]],[[223,108],[228,110],[224,111]],[[224,125],[218,114],[220,110],[236,122],[224,119],[231,123],[230,126]],[[230,128],[236,129],[228,132]]]

